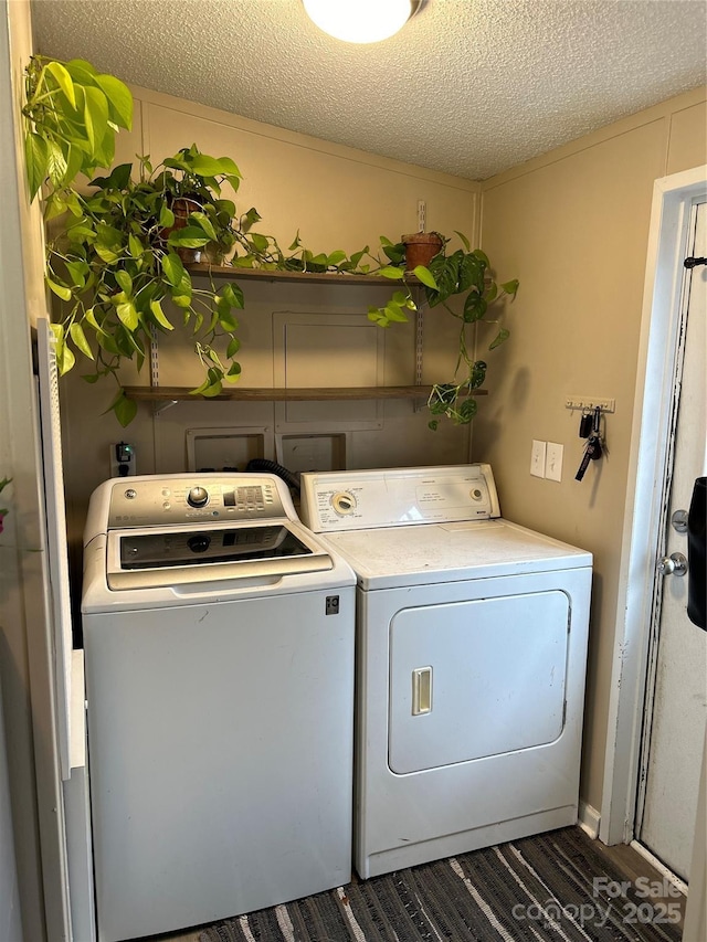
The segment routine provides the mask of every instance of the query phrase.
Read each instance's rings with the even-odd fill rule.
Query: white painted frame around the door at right
[[[634,837],[651,605],[661,540],[673,375],[693,205],[707,199],[707,165],[655,181],[619,574],[599,837]]]

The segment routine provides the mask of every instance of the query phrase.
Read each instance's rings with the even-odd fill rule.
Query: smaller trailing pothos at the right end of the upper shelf
[[[510,331],[502,327],[497,319],[488,318],[489,305],[504,296],[515,298],[518,281],[514,278],[497,284],[490,275],[490,263],[481,248],[472,250],[468,239],[461,232],[456,235],[464,248],[447,254],[450,240],[441,235],[443,245],[428,265],[418,265],[412,272],[407,271],[405,246],[402,242],[393,243],[381,237],[381,245],[390,264],[379,271],[379,275],[400,281],[404,290],[395,292],[383,307],[369,308],[369,319],[380,327],[408,320],[408,311],[416,310],[418,305],[413,295],[413,278],[422,285],[426,304],[432,308],[441,305],[452,317],[460,321],[458,354],[452,379],[445,383],[434,383],[428,400],[428,408],[434,416],[429,425],[435,431],[440,417],[446,416],[456,425],[465,425],[472,421],[478,410],[478,403],[473,395],[486,378],[486,362],[473,356],[474,338],[469,336],[472,325],[496,324],[498,332],[488,349],[494,350],[508,339]],[[461,307],[452,307],[449,301],[461,296]]]

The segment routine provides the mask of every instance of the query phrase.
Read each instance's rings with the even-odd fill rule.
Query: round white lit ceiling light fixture
[[[418,12],[421,0],[303,0],[309,19],[337,40],[387,40]]]

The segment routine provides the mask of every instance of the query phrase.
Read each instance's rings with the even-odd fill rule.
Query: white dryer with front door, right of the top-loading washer
[[[488,465],[302,487],[358,576],[360,876],[574,824],[591,554],[500,519]]]

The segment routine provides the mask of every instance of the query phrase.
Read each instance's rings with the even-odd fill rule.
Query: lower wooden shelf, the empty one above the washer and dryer
[[[428,399],[431,385],[395,387],[340,387],[329,389],[245,389],[224,390],[220,395],[194,395],[186,387],[126,387],[128,399],[151,402],[201,400],[229,400],[233,402],[314,402],[351,399]],[[469,395],[487,395],[488,390],[477,389]]]

